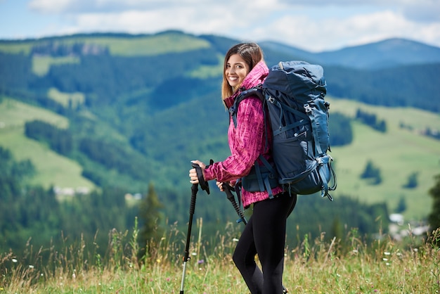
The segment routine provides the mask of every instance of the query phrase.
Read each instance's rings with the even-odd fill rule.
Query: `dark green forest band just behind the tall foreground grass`
[[[29,242],[34,246],[65,246],[86,240],[88,250],[104,256],[110,244],[109,232],[132,229],[135,219],[139,219],[139,254],[143,255],[155,241],[160,241],[169,224],[177,224],[182,232],[186,231],[189,188],[181,192],[164,191],[149,184],[142,192],[143,198],[135,201],[127,199],[127,191],[117,186],[59,198],[53,187],[25,184],[33,174],[32,162],[17,161],[10,151],[0,148],[0,250],[20,252]],[[430,190],[435,201],[429,221],[434,228],[439,226],[439,177],[437,181]],[[226,196],[214,188],[212,191],[209,196],[198,195],[195,210],[195,217],[203,219],[203,234],[208,238],[219,234],[226,222],[238,219]],[[252,210],[246,213],[250,217]],[[319,196],[299,196],[288,219],[287,242],[295,247],[305,235],[315,238],[323,232],[325,238],[344,238],[351,229],[356,229],[360,236],[372,237],[380,230],[387,232],[389,213],[386,203],[368,205],[349,196],[337,196],[334,202]]]

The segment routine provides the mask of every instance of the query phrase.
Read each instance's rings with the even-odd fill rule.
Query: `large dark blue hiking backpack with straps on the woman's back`
[[[329,191],[336,188],[332,168],[328,110],[324,100],[326,83],[321,65],[304,61],[280,62],[273,66],[263,84],[242,91],[229,109],[235,127],[239,103],[258,96],[263,101],[273,133],[271,146],[274,166],[259,156],[249,175],[242,178],[247,191],[268,191],[283,186],[285,191],[309,195],[321,191],[321,197],[333,200]],[[333,184],[329,186],[330,180]]]

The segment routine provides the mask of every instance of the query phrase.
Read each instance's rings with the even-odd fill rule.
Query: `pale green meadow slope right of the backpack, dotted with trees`
[[[434,186],[434,175],[440,173],[440,141],[422,136],[420,131],[427,127],[438,130],[440,115],[414,108],[368,106],[331,98],[329,101],[330,115],[340,112],[354,117],[356,110],[361,108],[387,122],[385,134],[355,123],[353,143],[332,148],[338,175],[337,193],[355,196],[367,203],[386,200],[390,209],[404,198],[408,206],[407,218],[418,219],[426,215],[432,207],[428,190]],[[413,130],[402,129],[399,127],[402,123]],[[359,179],[368,160],[380,168],[382,184],[368,185]],[[418,186],[403,188],[413,172],[418,172]]]

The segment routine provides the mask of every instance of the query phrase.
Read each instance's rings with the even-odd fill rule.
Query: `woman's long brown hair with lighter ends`
[[[252,70],[257,63],[263,60],[263,51],[255,43],[240,43],[231,47],[226,53],[224,65],[223,65],[223,82],[221,82],[221,98],[228,98],[233,95],[233,88],[229,85],[226,79],[226,64],[228,63],[231,55],[238,54],[245,60],[249,66],[249,70]]]

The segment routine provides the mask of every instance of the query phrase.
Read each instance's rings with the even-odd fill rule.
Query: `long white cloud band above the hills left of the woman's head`
[[[203,5],[198,8],[171,6],[119,13],[80,13],[71,17],[75,19],[78,31],[93,28],[99,31],[124,30],[141,33],[179,29],[195,34],[231,35],[231,32],[245,34],[245,31],[254,26],[253,23],[261,23],[261,6],[265,5],[264,0],[256,1],[253,5],[249,1],[238,1],[232,7],[215,1],[209,6]]]

